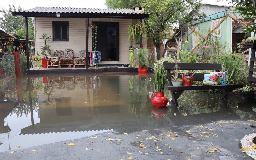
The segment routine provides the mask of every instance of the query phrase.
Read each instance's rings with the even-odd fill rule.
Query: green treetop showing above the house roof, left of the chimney
[[[106,0],[105,5],[108,8],[133,8],[142,6],[143,0]]]

